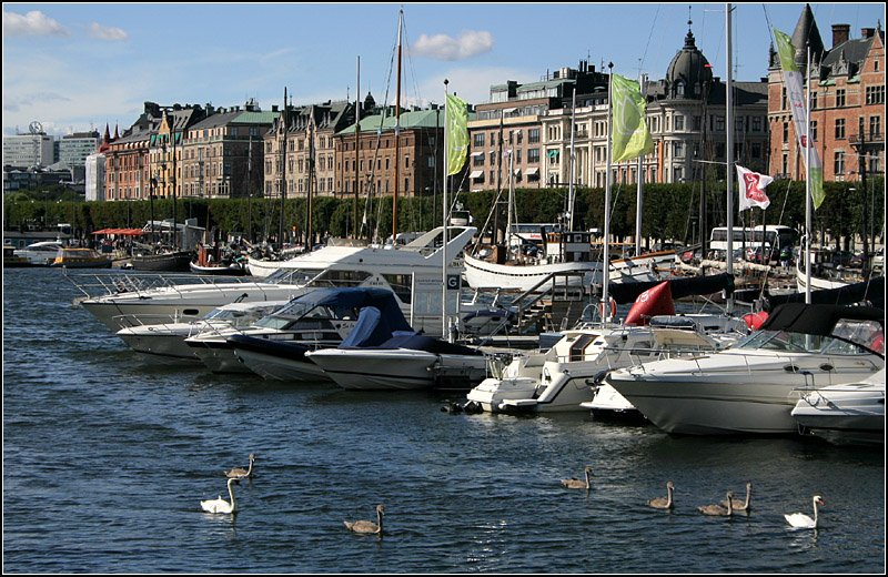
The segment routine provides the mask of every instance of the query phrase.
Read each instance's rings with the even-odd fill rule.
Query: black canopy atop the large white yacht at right
[[[875,321],[884,328],[885,310],[874,306],[788,303],[775,308],[761,324],[761,330],[830,336],[833,327],[841,320]]]

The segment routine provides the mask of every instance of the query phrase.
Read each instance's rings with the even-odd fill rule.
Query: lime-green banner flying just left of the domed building
[[[613,98],[610,105],[610,138],[614,162],[637,159],[654,151],[654,139],[647,130],[647,103],[638,82],[619,74],[610,74]]]

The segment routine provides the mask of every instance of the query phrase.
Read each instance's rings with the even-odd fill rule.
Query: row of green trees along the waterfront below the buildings
[[[735,183],[734,194],[737,194]],[[848,250],[854,236],[866,236],[871,246],[874,236],[880,244],[885,226],[884,176],[870,179],[866,186],[859,182],[825,183],[826,200],[814,214],[816,241],[836,244]],[[673,240],[693,244],[699,242],[700,183],[647,184],[644,189],[644,214],[642,231],[646,244]],[[767,211],[751,209],[735,216],[736,225],[785,224],[804,229],[805,183],[777,181],[767,189],[770,206]],[[281,202],[276,199],[171,199],[134,202],[82,202],[71,198],[70,191],[23,191],[6,195],[3,203],[3,229],[20,229],[29,224],[54,226],[65,222],[72,225],[74,235],[88,239],[92,231],[105,227],[141,227],[152,215],[157,220],[175,217],[178,222],[193,217],[198,225],[216,232],[216,237],[242,234],[261,242],[276,237],[281,222],[285,235],[302,239],[306,230],[306,202],[304,198],[287,199],[281,221]],[[724,225],[726,217],[725,183],[710,183],[704,193],[706,206],[706,233],[713,226]],[[482,227],[488,219],[495,194],[492,191],[465,193],[456,201],[470,211],[475,225]],[[518,189],[515,191],[517,219],[521,222],[555,222],[566,210],[567,189]],[[614,240],[624,241],[634,236],[636,220],[636,189],[615,185],[612,189],[613,216],[610,231]],[[451,196],[453,200],[453,196]],[[398,229],[401,231],[425,231],[441,224],[442,199],[440,195],[398,199]],[[152,206],[153,204],[153,206]],[[496,219],[505,226],[505,193],[501,195],[501,213]],[[737,202],[734,203],[735,207]],[[355,210],[356,209],[356,210]],[[392,227],[392,199],[315,198],[312,200],[312,230],[315,241],[324,236],[351,236],[355,234],[354,214],[357,213],[357,233],[373,237],[379,231],[384,239]],[[604,190],[578,189],[574,211],[574,224],[582,229],[603,229]],[[488,232],[485,231],[485,232]]]

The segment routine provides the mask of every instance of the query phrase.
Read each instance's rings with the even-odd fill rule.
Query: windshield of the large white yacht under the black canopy
[[[788,331],[758,331],[739,341],[735,348],[761,348],[791,353],[830,355],[885,354],[885,332],[875,321],[839,321],[829,336]]]

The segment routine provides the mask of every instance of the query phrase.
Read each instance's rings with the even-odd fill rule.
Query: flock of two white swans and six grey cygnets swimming
[[[210,500],[202,500],[201,508],[206,513],[223,513],[223,514],[234,514],[238,512],[238,503],[234,499],[234,489],[232,488],[233,485],[240,485],[240,480],[244,478],[250,478],[253,476],[253,463],[255,462],[255,455],[252,453],[249,457],[250,465],[248,468],[242,467],[234,467],[232,469],[225,470],[225,476],[228,477],[228,488],[229,488],[229,497],[231,497],[231,502],[228,502],[220,497],[218,499],[210,499]],[[589,476],[592,475],[592,465],[586,465],[583,470],[585,480],[578,479],[576,477],[561,479],[561,484],[563,487],[568,489],[585,489],[589,490],[592,488],[592,479]],[[667,509],[672,510],[675,508],[675,485],[672,480],[666,483],[666,497],[655,497],[647,502],[648,507],[653,507],[655,509]],[[716,516],[716,517],[730,517],[737,512],[749,513],[750,505],[749,502],[753,497],[753,484],[746,484],[746,499],[735,499],[734,492],[728,490],[725,500],[722,503],[716,503],[713,505],[700,505],[697,507],[697,510],[704,515]],[[797,528],[807,528],[814,529],[817,528],[817,506],[825,505],[823,497],[819,495],[815,495],[811,499],[814,504],[814,517],[811,518],[804,513],[793,513],[791,515],[784,515],[786,522],[791,525],[793,527]],[[360,534],[367,534],[367,535],[382,535],[382,518],[384,516],[385,507],[383,505],[376,505],[376,523],[372,520],[344,520],[343,524],[345,528]]]

